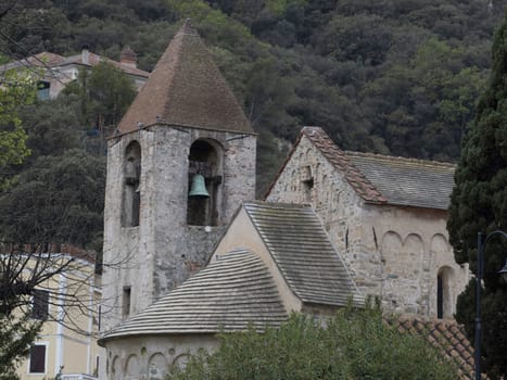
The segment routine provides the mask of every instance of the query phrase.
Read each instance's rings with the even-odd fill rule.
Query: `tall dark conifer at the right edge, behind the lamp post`
[[[493,45],[493,65],[473,125],[464,139],[456,170],[451,215],[451,243],[458,263],[470,263],[477,273],[477,233],[507,226],[507,14]],[[485,369],[491,378],[507,376],[507,287],[497,276],[506,258],[507,241],[492,239],[484,254],[483,349]],[[472,280],[458,299],[456,318],[474,332],[474,289]]]

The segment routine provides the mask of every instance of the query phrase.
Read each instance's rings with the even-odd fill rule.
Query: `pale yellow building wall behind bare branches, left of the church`
[[[93,263],[83,259],[77,259],[76,266],[65,275],[41,283],[41,289],[54,292],[54,299],[50,297],[49,318],[35,341],[46,345],[46,371],[30,373],[27,357],[17,370],[22,380],[49,380],[59,372],[63,380],[72,375],[86,375],[83,379],[97,376],[97,357],[102,349],[97,344],[101,291],[96,284],[100,287],[100,279],[94,275]],[[59,297],[62,293],[75,297]]]

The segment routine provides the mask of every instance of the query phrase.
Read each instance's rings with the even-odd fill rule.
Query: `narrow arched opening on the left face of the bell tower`
[[[139,226],[141,205],[141,145],[132,141],[125,150],[122,226]]]

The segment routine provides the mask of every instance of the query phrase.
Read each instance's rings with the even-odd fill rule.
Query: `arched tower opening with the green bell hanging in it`
[[[212,140],[197,140],[189,154],[187,224],[217,226],[221,194],[221,148]]]

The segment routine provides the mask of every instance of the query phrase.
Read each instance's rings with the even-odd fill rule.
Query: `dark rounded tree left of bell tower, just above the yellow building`
[[[96,248],[103,228],[104,182],[104,157],[78,149],[40,156],[0,197],[1,237]]]

